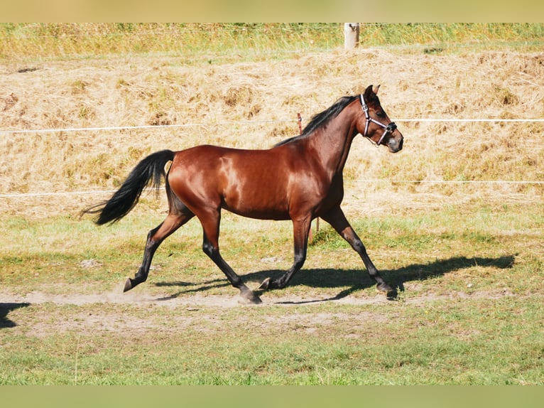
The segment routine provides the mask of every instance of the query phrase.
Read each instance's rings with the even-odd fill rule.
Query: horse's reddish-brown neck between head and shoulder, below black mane
[[[357,134],[354,115],[353,109],[344,109],[325,127],[317,129],[312,137],[312,147],[322,166],[332,175],[343,171],[353,138]]]

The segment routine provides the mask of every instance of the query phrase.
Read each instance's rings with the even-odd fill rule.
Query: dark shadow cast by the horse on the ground
[[[393,292],[388,294],[388,299],[395,299],[398,291],[404,291],[404,284],[409,281],[423,281],[434,277],[441,277],[459,269],[467,269],[474,266],[495,267],[508,269],[513,266],[514,255],[502,257],[451,257],[448,259],[436,259],[426,264],[411,264],[398,269],[383,269],[381,276],[393,287]],[[258,272],[251,272],[242,276],[244,281],[263,281],[266,278],[276,279],[281,277],[285,270],[266,269]],[[205,282],[161,282],[156,286],[186,286],[187,289],[178,291],[176,294],[161,298],[168,300],[183,294],[207,291],[213,288],[229,286],[227,279],[213,279]],[[289,286],[310,286],[315,288],[344,288],[337,295],[325,300],[342,299],[354,291],[367,289],[375,286],[376,282],[370,279],[364,268],[361,269],[302,269],[289,282]],[[345,289],[347,286],[347,289]],[[259,292],[260,294],[261,292]]]

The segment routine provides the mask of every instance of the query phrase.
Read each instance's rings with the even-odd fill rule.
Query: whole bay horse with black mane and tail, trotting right
[[[232,286],[239,289],[242,300],[260,303],[259,296],[244,284],[219,252],[222,208],[244,217],[293,221],[293,266],[278,279],[265,279],[259,286],[261,290],[285,287],[303,267],[310,224],[320,217],[357,251],[377,289],[392,291],[340,208],[344,196],[342,171],[357,134],[377,146],[387,146],[392,153],[403,147],[401,132],[376,96],[378,89],[379,86],[371,85],[364,94],[340,98],[315,115],[300,136],[282,141],[272,149],[203,145],[183,151],[158,151],[143,159],[109,200],[83,211],[99,214],[96,220],[99,225],[120,220],[134,208],[149,183],[158,188],[165,177],[168,215],[149,232],[141,267],[134,279],[127,279],[124,291],[146,281],[153,254],[161,242],[196,215],[204,230],[203,251],[227,275]],[[165,174],[168,161],[172,164]]]

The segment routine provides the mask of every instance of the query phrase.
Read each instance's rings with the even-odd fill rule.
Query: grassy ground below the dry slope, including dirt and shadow
[[[11,244],[0,252],[1,291],[109,293],[134,274],[155,218],[106,228],[70,218],[3,220]],[[263,294],[263,306],[2,304],[0,384],[542,385],[542,222],[541,205],[355,220],[398,286],[393,301],[376,295],[357,254],[322,225],[303,271],[288,288]],[[43,245],[18,240],[22,230]],[[202,254],[197,222],[170,241],[135,293],[234,296]],[[290,264],[289,223],[226,216],[222,242],[249,281]],[[278,264],[259,262],[273,255]],[[89,257],[100,266],[80,267]],[[276,303],[285,296],[294,303]]]

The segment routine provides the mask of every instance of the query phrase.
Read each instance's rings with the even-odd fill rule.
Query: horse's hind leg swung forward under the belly
[[[210,257],[210,259],[212,259],[214,264],[222,270],[232,286],[239,289],[241,301],[248,304],[260,304],[261,299],[259,296],[244,284],[241,277],[239,277],[229,264],[225,262],[219,252],[219,220],[219,212],[210,217],[204,218],[201,216],[200,222],[202,223],[202,229],[204,230],[202,250]]]

